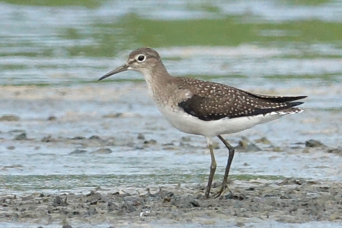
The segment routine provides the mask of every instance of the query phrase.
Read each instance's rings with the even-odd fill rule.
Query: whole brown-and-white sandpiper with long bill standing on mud
[[[222,186],[214,194],[214,197],[219,197],[226,187],[234,157],[234,147],[221,135],[236,133],[286,114],[300,113],[303,109],[294,106],[304,102],[293,101],[306,98],[264,96],[220,83],[174,77],[166,70],[158,52],[148,47],[132,51],[125,64],[98,80],[127,70],[140,72],[144,76],[153,100],[171,125],[206,138],[211,156],[206,199],[209,198],[216,170],[213,137],[218,137],[229,151]]]

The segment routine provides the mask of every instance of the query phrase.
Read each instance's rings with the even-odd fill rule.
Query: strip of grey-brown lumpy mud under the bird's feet
[[[216,187],[216,188],[215,188]],[[213,191],[218,190],[214,183]],[[281,223],[342,221],[342,183],[286,178],[279,181],[233,181],[220,198],[203,199],[204,185],[175,185],[101,193],[40,193],[0,196],[0,222],[47,225],[91,223],[147,224],[193,223],[202,219],[215,224],[229,219],[244,226],[250,218]]]

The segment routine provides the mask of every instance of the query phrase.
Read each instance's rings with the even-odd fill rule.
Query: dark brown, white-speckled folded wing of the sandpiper
[[[186,113],[204,121],[225,117],[265,115],[275,111],[287,110],[304,103],[292,101],[306,97],[264,96],[223,84],[188,78],[184,80],[190,80],[192,86],[185,86],[185,83],[182,83],[179,84],[179,88],[190,90],[193,96],[179,102],[178,106]]]

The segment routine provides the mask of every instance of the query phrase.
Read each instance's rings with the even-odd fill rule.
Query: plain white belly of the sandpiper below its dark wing
[[[217,135],[232,134],[257,124],[278,119],[279,114],[266,114],[237,118],[222,118],[214,121],[203,121],[181,110],[172,110],[171,107],[159,106],[158,109],[175,128],[195,135],[213,137]]]

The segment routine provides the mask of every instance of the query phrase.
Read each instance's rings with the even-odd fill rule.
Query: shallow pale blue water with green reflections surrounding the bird
[[[341,181],[342,157],[326,152],[342,145],[340,1],[8,0],[0,1],[0,10],[0,117],[19,117],[0,121],[2,193],[207,181],[205,139],[173,129],[141,75],[96,81],[141,46],[156,48],[173,75],[309,96],[301,114],[225,137],[233,145],[243,136],[272,143],[257,144],[259,152],[238,152],[232,178]],[[104,117],[113,113],[123,115]],[[28,140],[15,140],[22,130]],[[146,146],[139,133],[157,144]],[[56,142],[41,141],[49,135]],[[87,141],[94,135],[112,144]],[[78,136],[86,139],[73,139]],[[328,147],[305,151],[309,139]],[[101,148],[112,152],[92,153]],[[70,154],[75,149],[86,152]],[[215,154],[220,180],[227,151],[221,146]]]

